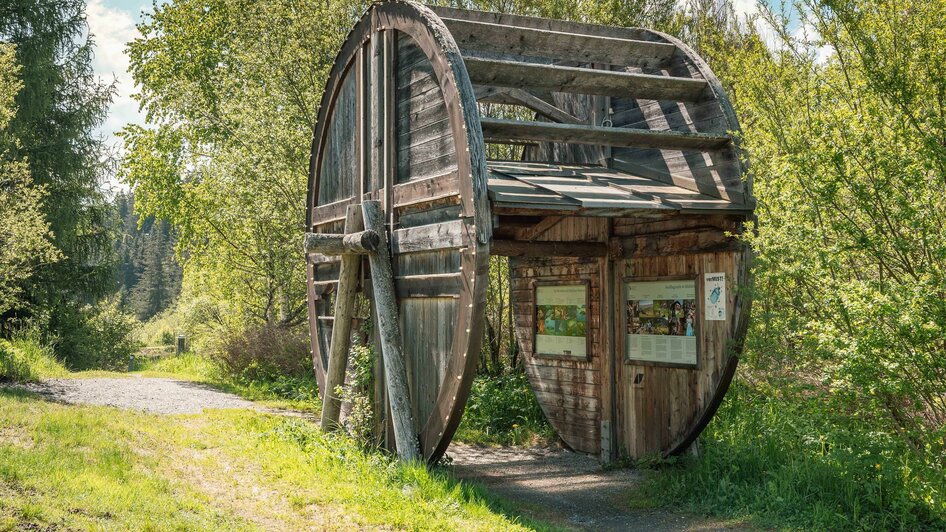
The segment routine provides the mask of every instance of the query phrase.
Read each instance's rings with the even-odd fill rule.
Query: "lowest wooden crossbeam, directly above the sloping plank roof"
[[[666,150],[711,150],[722,148],[730,142],[727,135],[709,133],[651,131],[499,118],[483,118],[480,123],[483,128],[483,138],[486,142],[492,143],[537,141]]]

